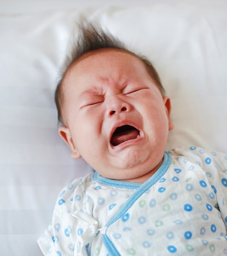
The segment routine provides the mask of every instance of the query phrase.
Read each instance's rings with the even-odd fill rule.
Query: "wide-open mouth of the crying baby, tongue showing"
[[[118,127],[110,140],[113,146],[117,146],[125,141],[137,139],[139,137],[139,130],[131,125],[122,125]]]

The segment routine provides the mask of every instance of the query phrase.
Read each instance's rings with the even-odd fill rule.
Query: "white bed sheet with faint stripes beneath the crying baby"
[[[227,152],[227,2],[103,3],[2,4],[1,255],[42,255],[36,240],[51,221],[61,188],[92,171],[83,159],[70,158],[58,136],[53,97],[81,15],[154,64],[172,99],[175,128],[166,149]]]

